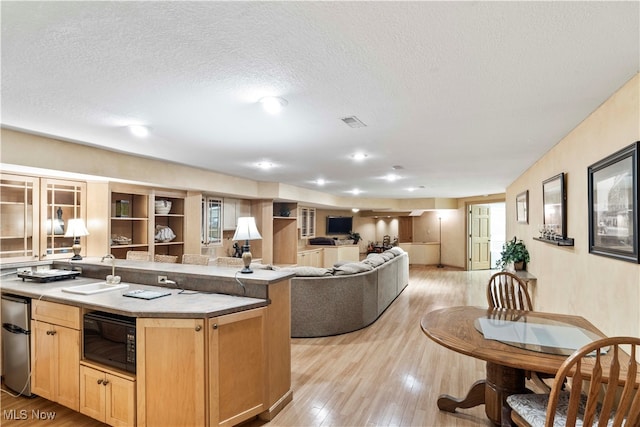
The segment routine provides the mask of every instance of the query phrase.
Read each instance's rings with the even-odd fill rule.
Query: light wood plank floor
[[[486,306],[491,271],[466,272],[412,266],[409,286],[371,326],[350,334],[292,340],[293,401],[271,422],[275,426],[490,426],[484,406],[441,412],[441,393],[461,397],[484,363],[435,344],[420,329],[423,314],[455,305]],[[44,399],[0,393],[2,426],[102,426]],[[8,421],[9,409],[55,411],[53,422]]]

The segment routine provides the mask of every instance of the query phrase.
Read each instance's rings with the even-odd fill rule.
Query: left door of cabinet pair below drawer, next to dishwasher
[[[31,391],[55,401],[56,340],[52,330],[48,323],[31,321]]]

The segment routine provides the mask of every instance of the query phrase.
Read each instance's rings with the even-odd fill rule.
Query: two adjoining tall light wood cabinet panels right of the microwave
[[[266,409],[264,308],[139,318],[136,334],[139,426],[235,425]]]

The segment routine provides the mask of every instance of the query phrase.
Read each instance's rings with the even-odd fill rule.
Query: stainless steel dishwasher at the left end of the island
[[[4,385],[31,396],[31,300],[3,294],[1,308]]]

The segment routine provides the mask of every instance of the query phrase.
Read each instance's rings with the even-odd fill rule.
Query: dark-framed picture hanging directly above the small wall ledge
[[[567,193],[564,172],[542,182],[542,211],[545,228],[553,231],[555,239],[566,239]]]

